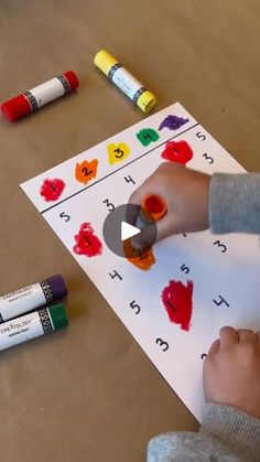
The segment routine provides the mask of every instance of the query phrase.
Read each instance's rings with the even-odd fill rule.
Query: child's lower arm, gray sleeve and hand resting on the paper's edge
[[[198,433],[150,441],[148,462],[260,460],[260,332],[223,327],[204,361],[207,405]]]

